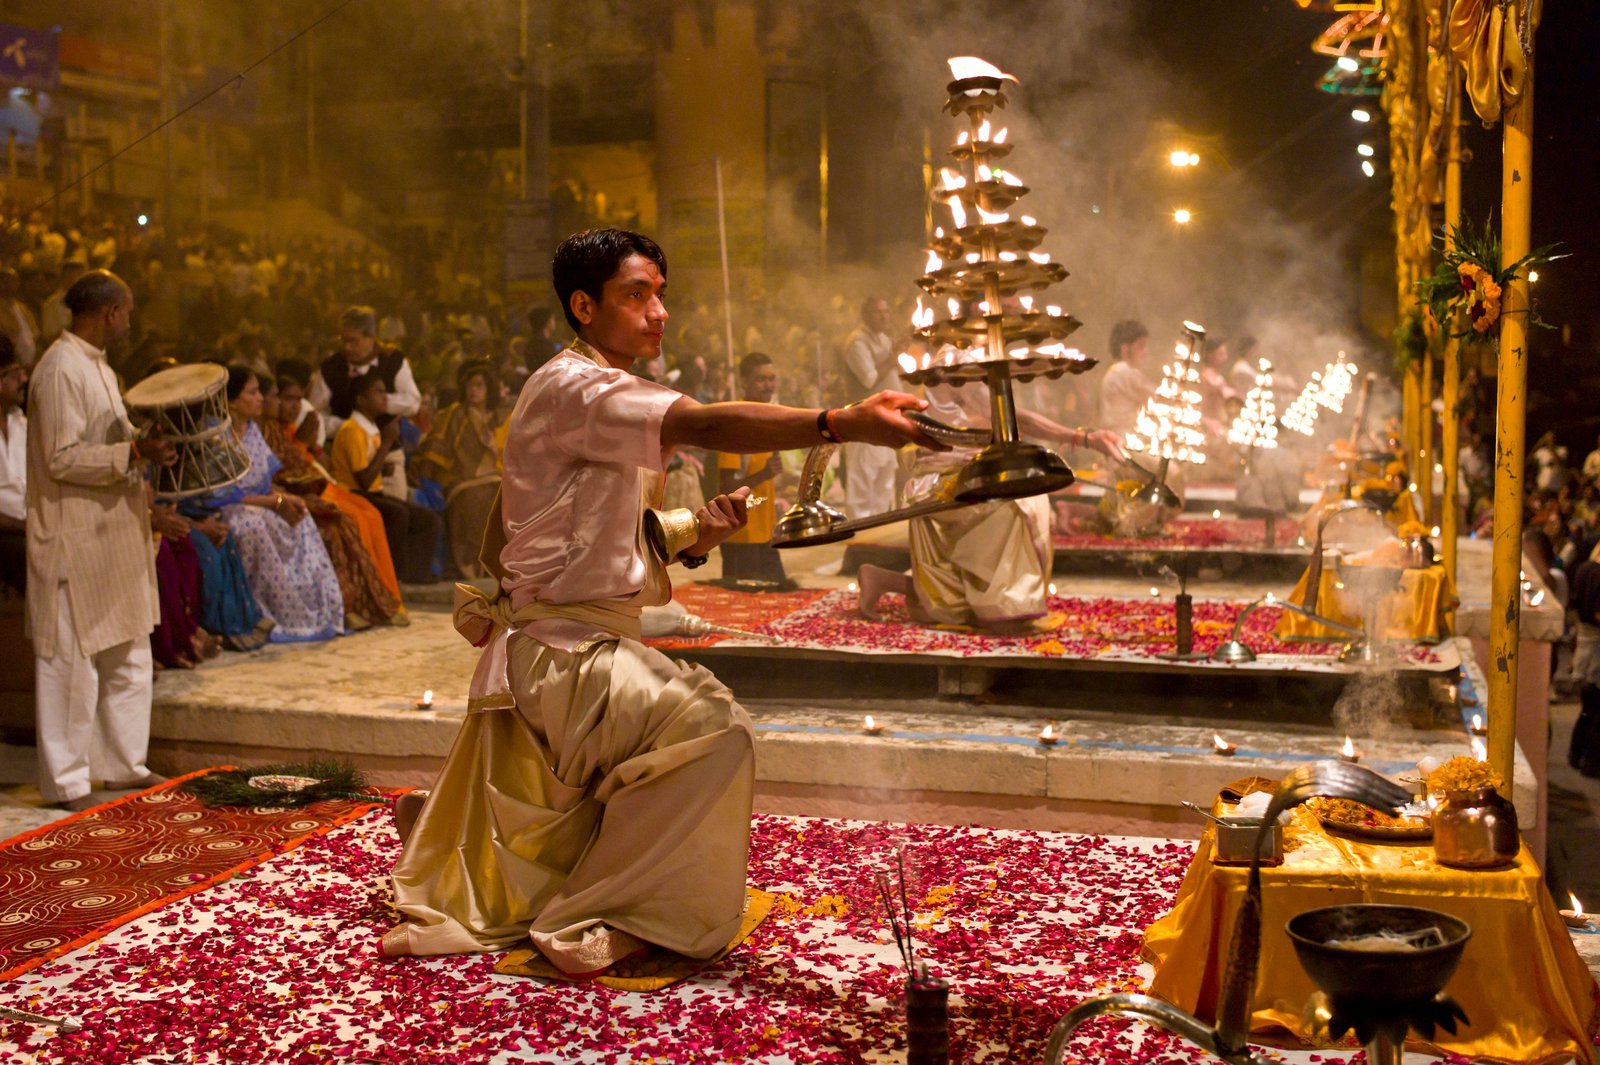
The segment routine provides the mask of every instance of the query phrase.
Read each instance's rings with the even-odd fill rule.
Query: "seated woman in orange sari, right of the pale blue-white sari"
[[[384,536],[382,515],[360,496],[334,485],[328,470],[310,457],[304,443],[291,435],[293,422],[288,419],[294,417],[294,411],[283,408],[282,381],[282,377],[278,382],[267,381],[262,389],[261,435],[274,457],[283,464],[274,481],[304,499],[310,517],[317,521],[322,545],[328,548],[328,561],[333,563],[333,571],[339,577],[339,595],[344,598],[344,627],[360,632],[387,622],[406,624],[408,619],[400,606],[395,568],[389,560],[389,539]],[[294,392],[294,398],[299,400],[298,392]],[[387,580],[384,571],[387,571]]]

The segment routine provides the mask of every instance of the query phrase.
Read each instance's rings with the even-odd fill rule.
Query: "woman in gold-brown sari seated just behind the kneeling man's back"
[[[461,400],[434,419],[411,469],[419,478],[438,481],[445,491],[450,561],[462,577],[480,577],[478,547],[501,481],[496,446],[501,419],[491,405],[499,389],[485,360],[462,363],[456,385]]]

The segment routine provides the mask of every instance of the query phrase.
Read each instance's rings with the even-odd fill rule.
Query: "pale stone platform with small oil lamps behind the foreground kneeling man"
[[[840,547],[802,548],[786,553],[786,563],[808,585],[838,587],[845,577],[818,571],[837,572],[840,555]],[[1470,561],[1464,553],[1464,585]],[[1149,579],[1083,574],[1070,585],[1083,595],[1126,595],[1134,587],[1147,593]],[[1245,574],[1203,584],[1203,593],[1214,596],[1254,598],[1262,590]],[[376,784],[427,784],[459,728],[477,662],[450,627],[446,596],[445,587],[408,590],[410,628],[226,654],[195,672],[162,673],[152,766],[181,772],[338,755],[357,761]],[[1547,640],[1536,628],[1544,624],[1539,612],[1528,614],[1525,643]],[[1475,622],[1466,624],[1470,630]],[[1461,657],[1475,672],[1472,656]],[[1179,800],[1205,801],[1240,776],[1283,776],[1299,761],[1336,753],[1342,739],[1325,712],[1296,712],[1298,696],[1277,680],[1243,683],[1248,678],[1224,673],[1232,689],[1206,688],[1197,683],[1205,678],[1197,667],[1098,680],[1030,670],[1032,686],[966,673],[942,696],[938,684],[904,683],[909,675],[896,670],[915,664],[858,664],[845,675],[856,683],[832,691],[805,686],[818,668],[805,659],[787,664],[787,673],[758,664],[754,673],[723,668],[757,724],[760,809],[770,812],[1197,835],[1198,824]],[[922,676],[928,673],[923,668]],[[419,712],[426,689],[435,694],[434,707]],[[885,734],[862,734],[867,712]],[[1544,732],[1544,712],[1542,704],[1525,704],[1520,724]],[[1053,718],[1064,739],[1043,748],[1035,737]],[[0,728],[14,742],[30,742],[30,692],[0,694]],[[1210,753],[1213,732],[1238,744],[1240,753]],[[1424,753],[1442,760],[1467,753],[1459,724],[1419,731],[1381,721],[1358,742],[1368,763],[1386,771],[1403,771]],[[1542,758],[1518,755],[1518,811],[1541,852],[1542,776]]]

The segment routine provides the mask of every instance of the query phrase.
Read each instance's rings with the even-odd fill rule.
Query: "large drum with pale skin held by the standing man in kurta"
[[[194,363],[163,369],[128,389],[123,403],[141,433],[157,432],[178,448],[173,465],[154,467],[157,496],[203,496],[238,483],[250,472],[250,456],[234,438],[222,366]]]

